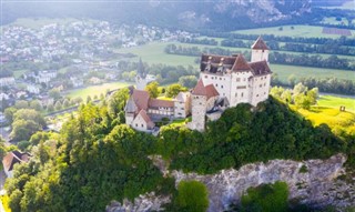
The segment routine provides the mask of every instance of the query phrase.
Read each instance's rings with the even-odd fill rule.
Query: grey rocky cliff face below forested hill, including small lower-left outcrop
[[[210,212],[223,211],[232,203],[239,203],[247,188],[276,181],[286,182],[290,190],[290,202],[303,203],[312,208],[335,205],[344,208],[355,205],[355,179],[345,181],[344,162],[346,158],[337,154],[328,160],[308,160],[296,162],[291,160],[272,160],[267,163],[252,163],[240,170],[222,170],[216,174],[200,175],[169,172],[161,160],[155,158],[164,174],[176,179],[176,185],[182,180],[197,180],[209,189]],[[146,198],[148,196],[148,198]],[[148,194],[138,198],[134,203],[124,201],[108,208],[110,212],[121,211],[153,211],[163,210],[161,206],[170,201],[169,196]],[[154,206],[150,206],[154,205]],[[134,210],[132,210],[134,209]]]

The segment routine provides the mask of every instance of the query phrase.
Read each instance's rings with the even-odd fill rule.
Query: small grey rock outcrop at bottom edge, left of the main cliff
[[[145,211],[164,211],[163,204],[169,203],[170,196],[156,196],[154,192],[140,195],[131,202],[126,199],[123,203],[112,201],[110,205],[106,206],[106,212],[145,212]]]

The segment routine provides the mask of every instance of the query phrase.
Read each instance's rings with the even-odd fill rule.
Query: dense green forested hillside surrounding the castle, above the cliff
[[[252,111],[248,104],[226,110],[204,133],[166,125],[153,137],[123,124],[128,92],[122,89],[100,105],[81,105],[59,134],[32,135],[32,160],[18,165],[6,184],[13,212],[102,211],[111,200],[150,191],[172,194],[169,209],[179,211],[184,205],[175,201],[174,179],[163,176],[149,159],[156,154],[170,161],[170,169],[199,173],[337,152],[354,164],[354,135],[339,139],[326,125],[314,128],[273,98]]]

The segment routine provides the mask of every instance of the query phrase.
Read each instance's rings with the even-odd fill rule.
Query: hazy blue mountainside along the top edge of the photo
[[[250,28],[274,22],[295,22],[312,11],[312,0],[199,0],[98,2],[3,1],[3,23],[26,17],[73,17],[118,23],[221,30]]]

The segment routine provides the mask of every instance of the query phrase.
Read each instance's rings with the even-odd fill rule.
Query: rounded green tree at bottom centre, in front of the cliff
[[[181,181],[178,185],[178,205],[186,212],[205,212],[209,208],[209,192],[199,181]]]

